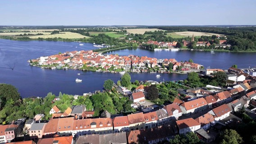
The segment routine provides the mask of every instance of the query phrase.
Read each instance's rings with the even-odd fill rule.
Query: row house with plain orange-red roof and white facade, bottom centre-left
[[[127,132],[129,130],[129,121],[127,116],[113,118],[114,132]]]

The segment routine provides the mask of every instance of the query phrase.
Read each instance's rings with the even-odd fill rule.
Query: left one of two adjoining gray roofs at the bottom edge
[[[76,144],[100,144],[99,134],[79,136]]]

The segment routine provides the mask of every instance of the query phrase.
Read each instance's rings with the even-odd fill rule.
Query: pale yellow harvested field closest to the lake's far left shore
[[[41,36],[29,36],[32,39],[37,39],[38,37],[41,38],[63,38],[63,39],[78,39],[78,38],[84,38],[84,37],[89,37],[89,36],[83,36],[79,33],[75,33],[75,32],[69,32],[69,31],[65,31],[65,32],[61,32],[59,34],[54,34],[54,35],[41,35]]]

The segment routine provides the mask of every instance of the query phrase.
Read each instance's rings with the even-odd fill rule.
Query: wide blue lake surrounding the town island
[[[31,67],[27,60],[50,56],[74,50],[95,49],[91,43],[61,42],[61,41],[15,41],[0,39],[0,83],[7,83],[18,88],[23,98],[30,96],[44,97],[48,92],[58,95],[79,94],[102,90],[104,81],[111,79],[114,82],[120,80],[119,73],[81,72],[78,70],[50,70],[40,67]],[[172,51],[148,51],[145,49],[124,49],[108,52],[108,54],[148,56],[154,58],[175,58],[185,61],[192,58],[195,63],[205,67],[227,69],[233,64],[238,67],[255,67],[255,53],[227,53],[182,50]],[[81,73],[81,75],[77,75]],[[157,78],[153,73],[130,73],[132,81],[155,80],[172,81],[183,80],[187,75],[161,74]],[[82,79],[82,83],[76,83],[75,79]]]

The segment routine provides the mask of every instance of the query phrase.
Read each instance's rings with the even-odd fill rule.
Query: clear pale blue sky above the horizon
[[[256,0],[1,0],[0,25],[256,25]]]

